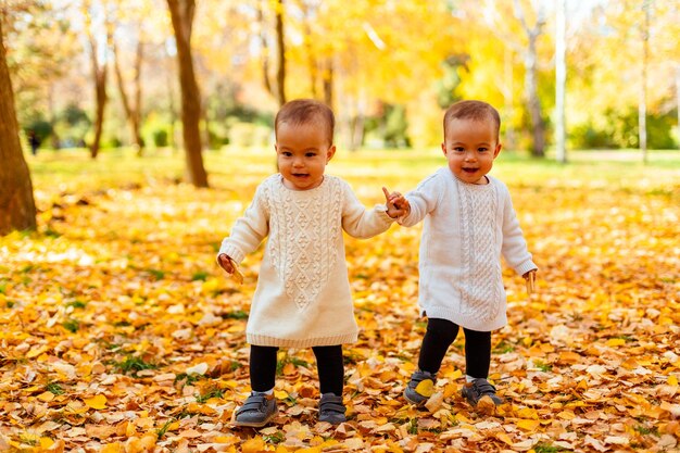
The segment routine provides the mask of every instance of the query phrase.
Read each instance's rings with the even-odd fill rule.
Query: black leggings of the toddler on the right
[[[428,318],[427,331],[420,348],[418,368],[437,373],[446,350],[458,335],[458,325],[446,319]],[[491,332],[463,328],[465,334],[465,373],[474,378],[487,378],[491,364]]]

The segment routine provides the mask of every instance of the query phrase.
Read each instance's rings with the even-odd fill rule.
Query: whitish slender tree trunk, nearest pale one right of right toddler
[[[557,162],[566,163],[566,0],[557,0],[556,22],[557,33],[555,37],[555,153]]]

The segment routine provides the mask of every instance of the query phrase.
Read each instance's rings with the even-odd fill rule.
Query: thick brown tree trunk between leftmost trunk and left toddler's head
[[[191,56],[191,27],[194,0],[167,0],[175,29],[179,85],[181,88],[181,124],[187,161],[187,177],[196,187],[207,187],[207,174],[201,154],[201,97]]]

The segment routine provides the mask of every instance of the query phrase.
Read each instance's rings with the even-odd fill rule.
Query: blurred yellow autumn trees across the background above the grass
[[[193,11],[179,35],[175,3]],[[543,156],[555,144],[554,1],[189,3],[3,2],[22,137],[93,155],[189,147],[196,159],[269,146],[280,103],[313,97],[336,111],[341,148],[432,147],[442,109],[478,98],[501,111],[506,149]],[[679,8],[565,0],[568,149],[637,148],[641,127],[646,147],[678,146]],[[188,166],[201,181],[200,164]]]

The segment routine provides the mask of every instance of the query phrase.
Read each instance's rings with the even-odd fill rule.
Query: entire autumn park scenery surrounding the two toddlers
[[[2,0],[0,451],[677,451],[679,26],[662,0]],[[392,227],[347,241],[349,421],[316,421],[288,350],[280,415],[234,427],[262,249],[240,286],[215,252],[297,97],[333,106],[328,171],[366,205],[442,165],[448,104],[501,111],[540,274],[529,297],[504,269],[495,414],[459,397],[462,337],[403,400],[420,229]]]

